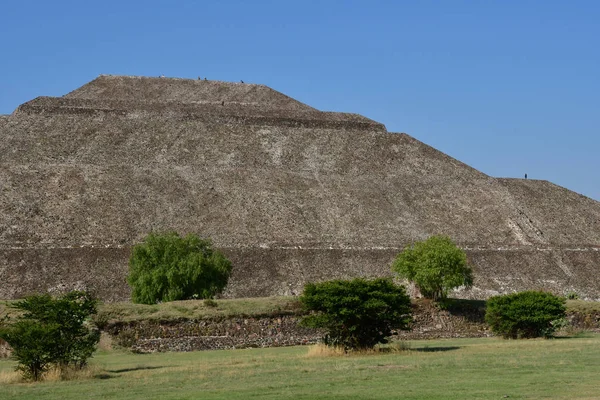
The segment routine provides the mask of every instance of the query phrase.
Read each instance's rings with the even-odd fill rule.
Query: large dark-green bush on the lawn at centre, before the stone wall
[[[326,329],[324,343],[346,350],[387,343],[393,329],[408,329],[411,321],[410,298],[389,279],[309,283],[300,301],[313,312],[301,324]]]

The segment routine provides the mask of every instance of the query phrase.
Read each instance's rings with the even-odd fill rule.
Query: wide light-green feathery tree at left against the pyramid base
[[[209,240],[151,233],[133,247],[127,281],[134,303],[156,304],[212,298],[227,285],[230,273],[231,262]]]

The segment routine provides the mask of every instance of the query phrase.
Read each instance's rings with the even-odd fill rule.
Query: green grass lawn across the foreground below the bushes
[[[398,353],[308,347],[136,355],[101,351],[94,379],[0,384],[0,399],[597,399],[600,335],[411,341]],[[14,367],[0,360],[0,374]]]

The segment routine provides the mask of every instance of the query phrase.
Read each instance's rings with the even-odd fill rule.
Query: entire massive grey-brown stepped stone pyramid
[[[103,75],[0,116],[0,298],[87,288],[129,298],[148,232],[210,237],[225,296],[383,276],[433,234],[467,251],[463,297],[600,298],[600,203],[490,177],[357,114],[263,85]]]

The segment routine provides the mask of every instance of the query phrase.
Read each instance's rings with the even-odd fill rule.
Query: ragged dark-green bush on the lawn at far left
[[[96,350],[100,332],[87,325],[97,309],[90,294],[34,295],[11,307],[21,314],[12,323],[4,319],[0,338],[12,347],[26,379],[39,380],[51,365],[82,368]]]

